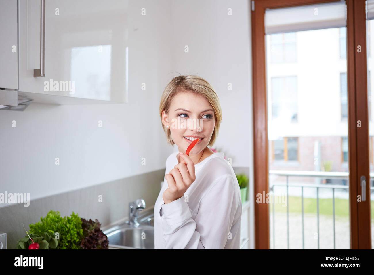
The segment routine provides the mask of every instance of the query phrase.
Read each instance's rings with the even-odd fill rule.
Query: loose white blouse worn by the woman
[[[165,175],[178,164],[177,154],[166,159]],[[195,175],[184,196],[168,204],[164,178],[154,205],[154,249],[240,249],[240,187],[224,153],[195,164]]]

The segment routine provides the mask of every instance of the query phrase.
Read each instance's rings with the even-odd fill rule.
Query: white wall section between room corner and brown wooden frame
[[[248,166],[252,135],[250,17],[248,1],[172,1],[172,71],[206,79],[223,111],[218,139],[233,166]],[[186,4],[188,3],[188,4]],[[227,9],[232,15],[227,15]],[[189,52],[184,52],[188,45]],[[170,78],[177,76],[173,74]],[[229,90],[228,83],[232,83]]]

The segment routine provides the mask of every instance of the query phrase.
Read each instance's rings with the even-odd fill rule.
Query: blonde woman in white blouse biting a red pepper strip
[[[222,120],[217,94],[201,77],[175,77],[162,94],[160,116],[179,152],[166,159],[168,174],[154,206],[154,248],[239,249],[239,183],[224,153],[207,147]],[[194,138],[200,140],[188,156]]]

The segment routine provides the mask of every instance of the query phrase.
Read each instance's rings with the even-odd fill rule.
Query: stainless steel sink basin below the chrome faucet
[[[109,245],[126,249],[154,249],[154,214],[153,208],[140,211],[137,216],[138,226],[128,220],[104,231]]]

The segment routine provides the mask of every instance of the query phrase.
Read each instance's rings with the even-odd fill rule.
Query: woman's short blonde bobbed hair
[[[177,76],[174,77],[168,85],[166,85],[165,90],[162,93],[160,101],[160,117],[162,120],[162,111],[165,110],[166,114],[169,113],[171,101],[173,97],[179,92],[193,92],[198,95],[202,95],[209,101],[214,110],[215,125],[212,133],[211,140],[208,145],[214,144],[217,136],[218,130],[220,129],[220,124],[222,120],[222,110],[218,95],[214,91],[213,87],[203,78],[189,74],[187,76]],[[174,145],[174,141],[171,138],[170,128],[166,128],[162,124],[162,128],[166,134],[166,140],[170,145]]]

